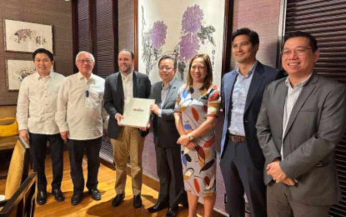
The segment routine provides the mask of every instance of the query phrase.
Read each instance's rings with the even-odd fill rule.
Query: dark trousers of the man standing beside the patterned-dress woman
[[[160,181],[158,202],[168,202],[170,207],[176,207],[180,202],[186,200],[182,178],[180,146],[177,146],[177,148],[163,148],[155,145],[155,151]]]

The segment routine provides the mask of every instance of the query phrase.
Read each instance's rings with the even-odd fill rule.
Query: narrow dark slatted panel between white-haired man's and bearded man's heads
[[[113,35],[113,6],[112,0],[96,1],[95,16],[95,58],[97,75],[103,78],[113,73],[114,64],[114,35]]]

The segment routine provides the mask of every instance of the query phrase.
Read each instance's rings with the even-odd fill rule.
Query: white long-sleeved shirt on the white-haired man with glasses
[[[86,94],[86,92],[88,94]],[[108,125],[103,108],[104,79],[81,72],[68,76],[60,86],[55,120],[60,132],[69,131],[70,139],[87,140],[102,136]]]

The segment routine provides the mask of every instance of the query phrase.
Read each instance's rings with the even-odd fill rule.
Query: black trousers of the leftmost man
[[[38,191],[46,191],[47,189],[47,179],[45,174],[47,141],[49,141],[49,148],[52,158],[52,189],[60,189],[64,170],[64,140],[61,138],[60,133],[46,135],[29,132],[29,137],[32,164],[34,171],[37,172]]]

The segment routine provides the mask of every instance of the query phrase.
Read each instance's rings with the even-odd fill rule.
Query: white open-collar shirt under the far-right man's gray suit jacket
[[[283,136],[285,135],[285,132],[286,132],[286,127],[287,127],[289,117],[291,115],[292,109],[293,109],[300,93],[303,90],[303,86],[306,84],[306,82],[308,82],[311,75],[312,75],[312,73],[309,75],[309,77],[307,79],[299,82],[293,88],[292,88],[291,83],[289,81],[289,76],[286,78],[285,85],[288,87],[288,89],[287,89],[287,96],[286,96],[286,100],[285,100],[285,106],[283,109],[282,141],[281,141],[281,150],[280,150],[281,160],[283,160],[283,158],[284,158],[284,156],[283,156]]]

